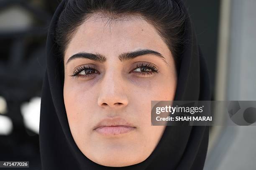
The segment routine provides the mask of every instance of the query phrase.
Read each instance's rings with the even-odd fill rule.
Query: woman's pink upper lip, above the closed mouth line
[[[125,119],[121,117],[115,117],[115,118],[106,118],[102,119],[96,126],[93,128],[94,130],[99,127],[106,127],[106,126],[128,126],[128,127],[134,127],[133,124],[127,122]]]

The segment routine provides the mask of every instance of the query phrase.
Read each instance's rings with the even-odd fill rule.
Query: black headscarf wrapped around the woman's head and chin
[[[106,167],[83,155],[69,129],[63,99],[63,63],[58,59],[61,54],[54,42],[54,30],[64,4],[65,0],[54,13],[46,43],[47,68],[42,87],[39,129],[43,170],[202,170],[209,139],[207,126],[167,126],[155,150],[136,165]],[[189,18],[185,37],[187,44],[181,56],[174,100],[210,100],[206,63]]]

